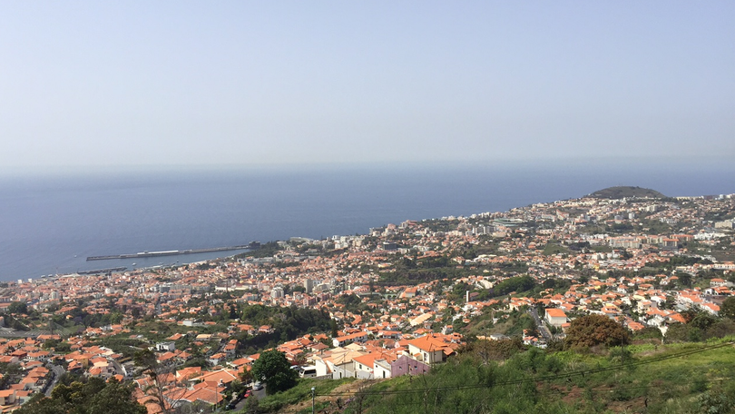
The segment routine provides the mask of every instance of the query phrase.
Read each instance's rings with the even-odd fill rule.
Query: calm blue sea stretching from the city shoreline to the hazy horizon
[[[5,176],[0,281],[202,261],[237,251],[85,259],[364,234],[389,222],[503,212],[613,185],[727,194],[735,192],[735,167],[587,161]]]

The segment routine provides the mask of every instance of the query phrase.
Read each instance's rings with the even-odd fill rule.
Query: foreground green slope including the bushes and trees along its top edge
[[[491,315],[488,310],[480,319]],[[735,321],[696,311],[682,316],[689,323],[671,325],[665,344],[660,330],[646,329],[635,334],[635,345],[626,346],[630,332],[602,315],[574,320],[564,346],[553,342],[547,350],[526,347],[517,336],[467,337],[458,355],[427,375],[358,381],[352,390],[318,388],[316,406],[334,409],[337,404],[349,414],[735,413]],[[527,312],[515,311],[486,329],[519,335],[535,325]],[[309,388],[299,382],[295,389],[271,395],[269,405],[264,399],[260,408],[246,412],[308,412]]]

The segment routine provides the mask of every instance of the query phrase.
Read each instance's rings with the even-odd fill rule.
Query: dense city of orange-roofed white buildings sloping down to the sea
[[[252,375],[264,352],[300,377],[383,380],[424,374],[477,340],[554,349],[591,314],[632,335],[691,336],[692,315],[720,318],[735,291],[735,194],[649,195],[5,282],[0,406],[98,378],[132,381],[149,413],[241,409],[265,395]]]

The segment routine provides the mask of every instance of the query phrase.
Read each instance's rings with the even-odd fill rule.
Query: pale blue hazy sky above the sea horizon
[[[0,168],[735,158],[735,2],[0,3]]]

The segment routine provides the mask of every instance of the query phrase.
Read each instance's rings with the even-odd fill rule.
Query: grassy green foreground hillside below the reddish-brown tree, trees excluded
[[[582,353],[532,348],[501,361],[488,358],[485,348],[467,347],[424,376],[363,382],[362,389],[356,381],[352,390],[320,395],[318,407],[376,414],[735,409],[732,342],[634,345]],[[310,407],[296,412],[310,412]]]

